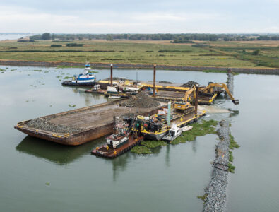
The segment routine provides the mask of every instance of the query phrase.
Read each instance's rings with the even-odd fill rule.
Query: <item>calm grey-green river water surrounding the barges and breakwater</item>
[[[17,122],[107,102],[84,88],[61,86],[64,76],[81,69],[0,66],[0,211],[201,211],[196,196],[210,180],[217,136],[156,148],[152,155],[126,153],[114,160],[90,151],[105,138],[82,146],[61,146],[13,129]],[[35,71],[37,70],[37,71]],[[109,77],[98,70],[97,78]],[[137,74],[136,74],[137,73]],[[153,71],[114,70],[114,76],[152,80]],[[207,84],[225,82],[222,73],[158,71],[158,81]],[[239,114],[208,114],[230,119],[241,146],[233,151],[235,174],[229,175],[227,211],[278,211],[279,76],[235,76],[232,105],[223,97],[215,105]]]

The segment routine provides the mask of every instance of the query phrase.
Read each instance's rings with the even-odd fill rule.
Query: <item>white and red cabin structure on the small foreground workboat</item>
[[[115,125],[114,130],[116,134],[107,137],[107,146],[110,148],[119,148],[125,143],[128,143],[130,136],[129,124],[126,122],[118,123]]]

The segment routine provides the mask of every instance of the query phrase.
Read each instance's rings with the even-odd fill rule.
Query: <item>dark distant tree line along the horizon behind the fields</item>
[[[203,41],[235,41],[235,40],[279,40],[279,35],[259,34],[51,34],[30,36],[30,40],[172,40],[172,42],[189,42],[190,40]]]

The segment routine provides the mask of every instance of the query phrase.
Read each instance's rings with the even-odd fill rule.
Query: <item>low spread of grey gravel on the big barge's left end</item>
[[[61,124],[53,124],[49,122],[48,119],[37,118],[32,119],[30,122],[26,123],[27,126],[33,127],[35,129],[41,129],[45,131],[52,131],[54,133],[64,133],[64,134],[74,134],[82,131],[81,128],[75,128],[71,126],[64,126]]]

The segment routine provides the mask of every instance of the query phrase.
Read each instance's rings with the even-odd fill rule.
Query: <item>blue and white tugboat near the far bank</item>
[[[90,73],[90,64],[85,64],[83,73],[74,75],[72,81],[64,81],[63,86],[95,86],[96,77],[94,73]]]

